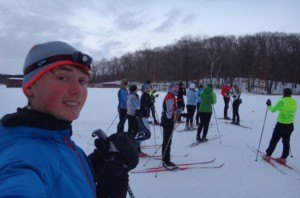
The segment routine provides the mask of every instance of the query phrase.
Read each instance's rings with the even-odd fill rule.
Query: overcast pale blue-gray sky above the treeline
[[[52,40],[100,60],[186,35],[300,33],[299,20],[299,0],[0,0],[0,73]]]

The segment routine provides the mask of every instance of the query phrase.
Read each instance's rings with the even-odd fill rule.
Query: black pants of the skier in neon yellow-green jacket
[[[272,138],[270,140],[270,144],[266,153],[268,156],[271,156],[274,152],[278,141],[282,138],[283,151],[281,154],[281,158],[286,159],[290,153],[290,137],[292,132],[294,131],[294,124],[282,124],[277,122]]]

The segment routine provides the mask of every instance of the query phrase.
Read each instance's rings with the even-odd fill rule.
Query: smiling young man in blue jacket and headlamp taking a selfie
[[[100,197],[100,191],[96,192],[98,183],[108,186],[105,184],[111,181],[126,182],[121,166],[106,167],[114,167],[109,169],[111,172],[121,172],[125,175],[122,179],[110,174],[100,181],[93,174],[91,165],[103,164],[93,166],[95,174],[99,168],[108,170],[103,168],[109,153],[108,142],[95,140],[90,164],[71,139],[71,123],[78,118],[87,98],[91,62],[91,57],[60,41],[30,49],[22,85],[28,105],[1,119],[1,197]],[[126,159],[124,163],[130,165],[126,167],[128,171],[136,161],[130,163]],[[122,182],[114,189],[118,197],[126,196],[128,184]],[[108,187],[104,191],[111,192]]]

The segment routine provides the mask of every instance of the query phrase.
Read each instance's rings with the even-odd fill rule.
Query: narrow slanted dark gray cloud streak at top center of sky
[[[155,32],[167,32],[169,31],[176,23],[178,18],[181,15],[181,11],[179,9],[172,9],[166,13],[166,19],[154,29]]]

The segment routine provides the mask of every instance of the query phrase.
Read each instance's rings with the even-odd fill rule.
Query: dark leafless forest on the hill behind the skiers
[[[92,82],[253,78],[300,83],[300,34],[185,36],[170,45],[95,61]]]

